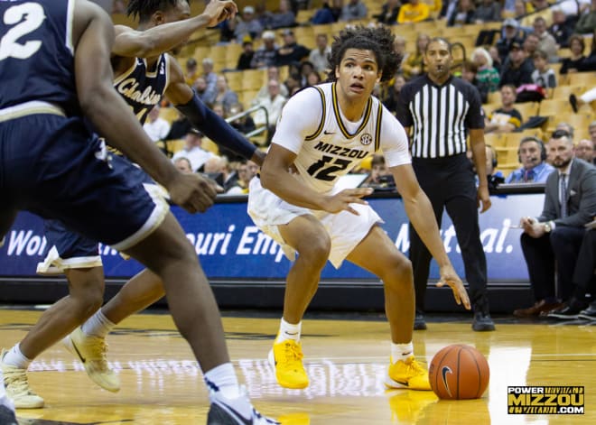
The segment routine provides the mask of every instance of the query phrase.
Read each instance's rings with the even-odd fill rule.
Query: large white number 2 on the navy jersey
[[[6,58],[27,59],[42,47],[42,42],[33,40],[21,44],[19,38],[37,30],[43,23],[45,14],[37,3],[23,3],[6,9],[3,22],[16,25],[8,30],[0,39],[0,60]]]

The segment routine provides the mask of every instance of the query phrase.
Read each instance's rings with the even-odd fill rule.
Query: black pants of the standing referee
[[[439,228],[443,208],[451,217],[461,248],[474,311],[489,313],[487,260],[480,242],[477,189],[472,164],[465,153],[444,158],[413,158],[420,187],[433,205]],[[416,311],[424,312],[424,298],[432,255],[410,224],[410,261],[414,270]]]

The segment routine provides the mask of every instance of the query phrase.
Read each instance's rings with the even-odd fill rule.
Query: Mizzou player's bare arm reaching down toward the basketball
[[[445,252],[439,235],[439,227],[434,219],[433,206],[423,189],[420,188],[412,165],[398,165],[389,170],[396,180],[396,189],[404,200],[405,213],[409,217],[410,223],[439,264],[441,282],[438,282],[437,286],[449,285],[452,288],[455,301],[458,304],[463,303],[464,307],[470,310],[468,293]]]

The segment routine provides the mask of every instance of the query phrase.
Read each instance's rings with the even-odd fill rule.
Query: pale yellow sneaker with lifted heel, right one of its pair
[[[79,327],[62,339],[62,344],[79,358],[91,381],[112,393],[120,391],[120,380],[107,365],[107,344],[104,338],[88,336]]]

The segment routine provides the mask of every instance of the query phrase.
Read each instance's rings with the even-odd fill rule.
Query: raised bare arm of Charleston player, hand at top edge
[[[124,25],[116,26],[114,56],[149,58],[170,51],[201,28],[215,26],[233,18],[237,5],[231,0],[210,2],[202,14],[175,23],[163,23],[145,31],[135,31]]]

